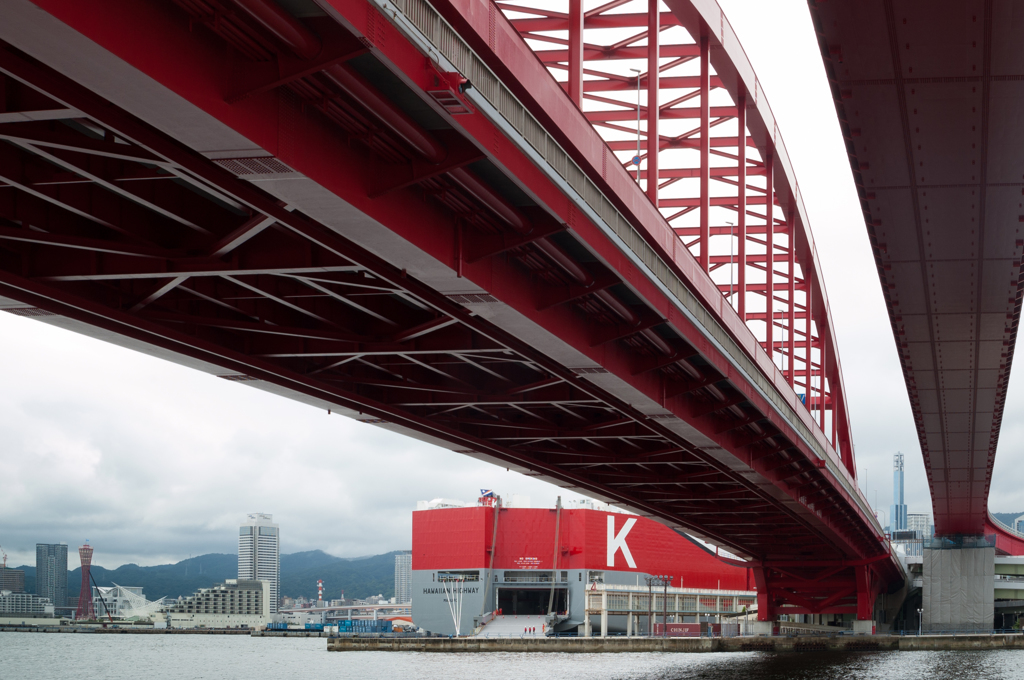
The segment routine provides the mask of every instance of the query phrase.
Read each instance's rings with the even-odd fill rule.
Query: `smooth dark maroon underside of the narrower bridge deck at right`
[[[988,493],[1024,292],[1024,17],[1015,3],[992,0],[810,5],[935,530],[1002,534]]]

